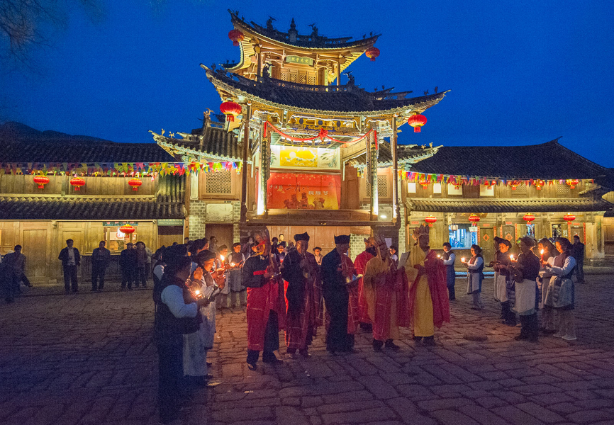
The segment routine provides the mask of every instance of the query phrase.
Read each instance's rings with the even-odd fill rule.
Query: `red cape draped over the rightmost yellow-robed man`
[[[418,246],[415,246],[418,249]],[[450,299],[447,293],[446,270],[442,259],[437,258],[435,251],[429,250],[424,261],[428,289],[432,300],[432,321],[435,327],[442,327],[443,322],[450,323]],[[411,285],[409,293],[409,309],[413,317],[416,288],[420,275],[415,278],[415,284]]]

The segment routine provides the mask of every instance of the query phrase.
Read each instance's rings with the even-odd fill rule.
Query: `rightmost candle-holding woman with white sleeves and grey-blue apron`
[[[555,320],[558,319],[559,323],[559,330],[553,336],[565,341],[574,341],[576,339],[574,323],[576,288],[571,276],[574,273],[576,259],[571,256],[572,246],[569,239],[559,237],[555,243],[560,254],[554,258],[552,266],[542,261],[545,270],[552,273],[546,302],[554,307]]]

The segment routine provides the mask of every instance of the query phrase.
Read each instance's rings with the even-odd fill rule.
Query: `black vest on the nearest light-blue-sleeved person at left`
[[[162,280],[160,281],[160,294],[167,286],[177,285],[182,288],[184,294],[184,302],[190,304],[196,302],[192,297],[189,289],[186,287],[182,280],[177,279],[175,276],[169,276],[164,273]],[[202,322],[201,314],[196,314],[196,317],[183,317],[178,319],[174,317],[169,307],[164,302],[159,302],[156,305],[155,312],[155,336],[157,339],[165,339],[169,336],[176,336],[182,334],[191,334],[199,330],[199,323]]]

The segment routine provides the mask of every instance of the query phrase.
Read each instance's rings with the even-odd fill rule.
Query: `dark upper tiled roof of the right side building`
[[[608,169],[559,144],[443,146],[411,171],[501,179],[603,179]]]

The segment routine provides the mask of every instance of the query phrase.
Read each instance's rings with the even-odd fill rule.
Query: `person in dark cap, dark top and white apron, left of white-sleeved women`
[[[515,339],[537,342],[537,276],[540,275],[540,259],[533,254],[535,241],[532,237],[520,238],[520,254],[512,259],[515,299],[512,311],[520,316],[520,335]]]

